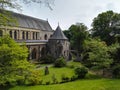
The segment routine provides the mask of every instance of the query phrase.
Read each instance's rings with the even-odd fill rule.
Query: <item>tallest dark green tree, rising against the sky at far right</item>
[[[105,41],[107,45],[111,45],[116,42],[114,36],[110,33],[116,31],[116,23],[120,21],[120,14],[113,11],[107,11],[100,13],[93,19],[92,23],[92,36],[100,37],[102,41]]]

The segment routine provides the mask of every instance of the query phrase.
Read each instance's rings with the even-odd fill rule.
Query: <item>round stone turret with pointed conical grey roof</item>
[[[69,46],[70,43],[67,37],[58,26],[56,31],[53,33],[52,37],[50,37],[48,41],[49,53],[55,58],[63,56],[66,58],[66,60],[68,60]]]

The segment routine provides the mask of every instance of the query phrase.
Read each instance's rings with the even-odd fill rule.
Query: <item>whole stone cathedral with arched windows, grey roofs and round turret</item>
[[[47,20],[11,12],[18,25],[0,26],[0,35],[9,35],[17,43],[25,43],[28,50],[28,60],[40,60],[47,54],[54,58],[63,56],[69,58],[69,41],[60,26],[52,30]]]

